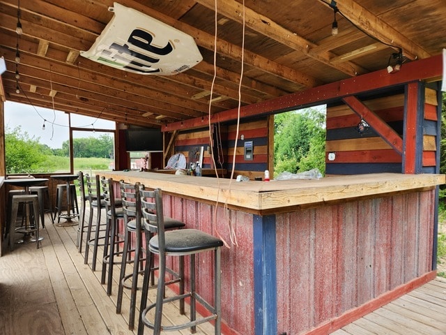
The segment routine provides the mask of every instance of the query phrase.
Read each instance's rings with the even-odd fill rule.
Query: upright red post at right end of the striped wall
[[[418,174],[423,161],[424,84],[407,84],[405,100],[403,173]]]

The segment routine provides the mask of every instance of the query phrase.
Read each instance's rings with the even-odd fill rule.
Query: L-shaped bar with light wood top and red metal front
[[[162,188],[165,214],[220,235],[223,334],[330,334],[436,275],[440,174],[242,181],[100,172]],[[210,260],[199,263],[210,297]]]

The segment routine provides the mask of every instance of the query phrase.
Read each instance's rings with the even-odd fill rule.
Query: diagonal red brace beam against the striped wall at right
[[[378,133],[383,140],[390,144],[390,146],[395,149],[400,155],[403,154],[403,139],[399,134],[394,131],[388,124],[386,124],[383,119],[378,117],[373,111],[369,110],[369,107],[364,105],[354,96],[346,96],[344,102],[351,107],[353,112],[362,117],[369,126],[374,128],[376,133]]]

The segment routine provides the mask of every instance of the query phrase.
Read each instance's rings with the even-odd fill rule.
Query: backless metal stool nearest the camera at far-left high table
[[[17,213],[19,211],[19,205],[24,204],[25,206],[30,206],[27,211],[29,211],[30,225],[31,225],[31,214],[33,219],[33,227],[24,227],[25,234],[28,232],[36,232],[36,244],[39,248],[39,200],[36,194],[16,194],[13,195],[11,201],[11,217],[9,222],[9,248],[10,251],[14,250],[14,235],[15,235],[15,222],[17,221]],[[22,215],[25,215],[24,213]]]

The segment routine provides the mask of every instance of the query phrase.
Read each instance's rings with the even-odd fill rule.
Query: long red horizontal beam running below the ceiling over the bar
[[[294,110],[312,105],[323,105],[328,101],[339,100],[345,96],[361,94],[375,89],[383,89],[399,84],[406,84],[419,80],[440,80],[443,71],[443,55],[438,54],[419,61],[403,64],[397,73],[387,73],[387,69],[367,73],[357,77],[332,82],[305,91],[296,92],[287,96],[270,99],[261,103],[254,103],[240,107],[240,118],[253,117],[281,110]],[[206,124],[235,120],[238,117],[238,108],[225,110],[213,114],[211,119],[205,117]],[[175,131],[203,127],[201,117],[166,124],[162,131]]]

